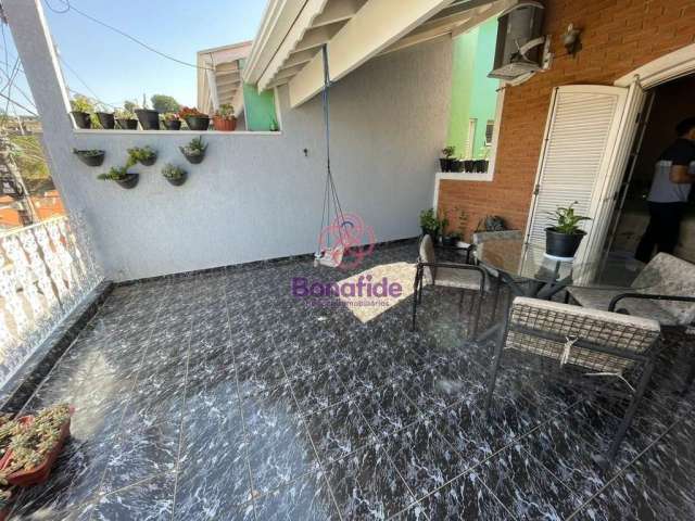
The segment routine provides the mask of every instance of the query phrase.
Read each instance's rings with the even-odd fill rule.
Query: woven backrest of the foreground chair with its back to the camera
[[[660,334],[656,320],[527,297],[514,300],[509,320],[513,327],[554,333],[565,340],[546,340],[510,329],[505,348],[557,359],[558,363],[565,353],[567,339],[579,339],[612,350],[644,353],[655,344]],[[634,360],[571,346],[567,364],[592,372],[622,374],[634,365]]]

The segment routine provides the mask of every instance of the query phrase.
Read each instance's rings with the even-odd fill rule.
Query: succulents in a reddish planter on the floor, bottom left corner
[[[55,405],[12,425],[12,440],[0,460],[0,484],[30,486],[48,480],[70,436],[73,414],[67,404]]]

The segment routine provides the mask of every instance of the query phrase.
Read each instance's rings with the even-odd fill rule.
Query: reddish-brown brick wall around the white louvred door
[[[484,215],[523,229],[552,89],[560,85],[611,85],[666,53],[695,42],[694,0],[545,0],[553,66],[505,92],[497,163],[492,182],[442,181],[439,207],[468,213],[466,237]],[[582,50],[567,55],[560,35],[583,29]]]

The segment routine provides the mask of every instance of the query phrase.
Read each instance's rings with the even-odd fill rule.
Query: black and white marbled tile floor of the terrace
[[[415,257],[384,246],[356,271]],[[464,342],[456,292],[426,290],[418,332],[409,297],[363,323],[290,293],[349,275],[288,262],[117,288],[27,405],[73,403],[73,437],[11,519],[694,518],[675,344],[603,472],[607,403],[506,368],[485,419],[490,345]]]

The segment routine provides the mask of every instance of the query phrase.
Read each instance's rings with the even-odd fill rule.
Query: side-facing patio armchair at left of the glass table
[[[431,237],[422,237],[414,282],[413,330],[416,328],[417,305],[422,302],[422,287],[426,283],[460,290],[459,308],[463,308],[466,290],[477,292],[478,297],[471,301],[471,306],[475,306],[475,318],[470,335],[475,338],[480,319],[482,294],[486,283],[485,271],[470,264],[438,263]]]

